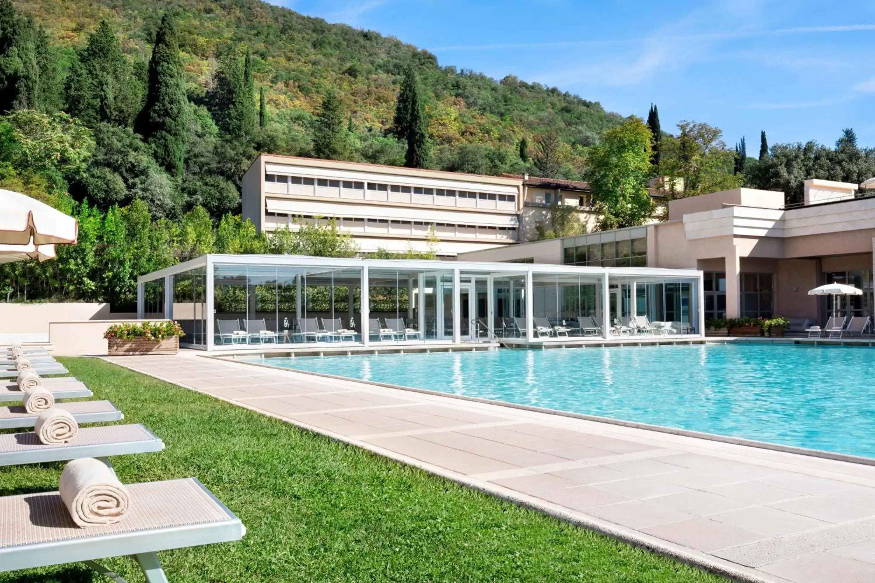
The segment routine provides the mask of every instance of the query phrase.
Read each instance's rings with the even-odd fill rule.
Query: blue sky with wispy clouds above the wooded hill
[[[272,0],[309,16],[393,35],[442,66],[470,68],[600,101],[662,128],[681,120],[746,135],[759,149],[854,128],[875,147],[875,3]]]

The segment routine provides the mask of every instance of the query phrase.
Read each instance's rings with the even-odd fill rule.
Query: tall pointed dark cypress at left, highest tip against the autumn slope
[[[165,14],[155,35],[146,102],[135,128],[151,145],[156,161],[173,176],[183,170],[187,123],[188,99],[176,22]]]

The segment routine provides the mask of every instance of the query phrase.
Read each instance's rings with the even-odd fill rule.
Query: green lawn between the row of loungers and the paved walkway
[[[123,482],[197,476],[246,524],[241,542],[160,553],[173,583],[721,580],[114,364],[62,360],[165,441],[162,453],[114,458]],[[62,467],[0,468],[0,495],[57,489]],[[132,559],[107,563],[143,581]],[[92,580],[103,581],[78,566],[0,573]]]

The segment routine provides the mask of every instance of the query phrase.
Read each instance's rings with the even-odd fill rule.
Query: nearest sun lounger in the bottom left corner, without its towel
[[[133,555],[149,583],[168,583],[156,552],[240,540],[246,528],[197,478],[127,484],[131,508],[116,524],[79,528],[58,492],[0,497],[0,572]]]

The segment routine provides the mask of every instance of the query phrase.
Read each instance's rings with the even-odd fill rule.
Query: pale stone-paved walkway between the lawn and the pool
[[[873,466],[197,354],[107,360],[742,580],[875,581]]]

